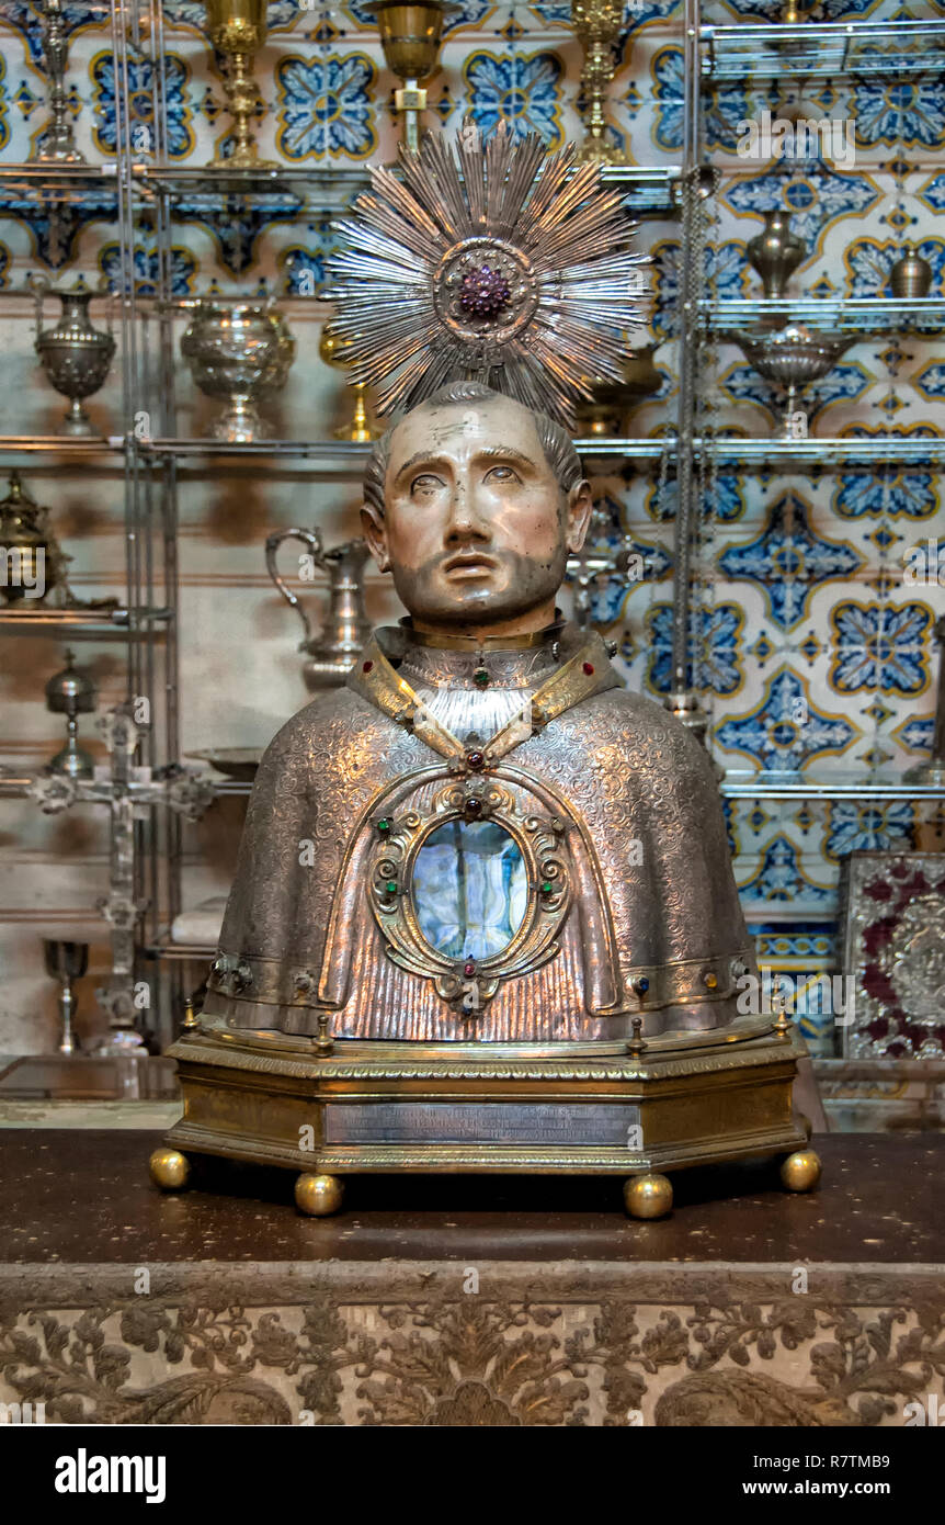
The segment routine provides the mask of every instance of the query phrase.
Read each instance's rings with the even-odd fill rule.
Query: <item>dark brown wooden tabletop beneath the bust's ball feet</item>
[[[0,1130],[0,1261],[805,1261],[945,1264],[945,1136],[818,1138],[823,1182],[780,1190],[776,1164],[680,1171],[672,1217],[623,1215],[619,1177],[360,1176],[343,1211],[305,1218],[291,1171],[207,1161],[165,1196],[160,1135]]]

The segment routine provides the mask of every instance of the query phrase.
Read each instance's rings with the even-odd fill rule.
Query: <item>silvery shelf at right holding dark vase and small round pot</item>
[[[721,297],[703,300],[700,310],[710,329],[739,323],[783,319],[809,328],[867,334],[945,331],[945,297]]]

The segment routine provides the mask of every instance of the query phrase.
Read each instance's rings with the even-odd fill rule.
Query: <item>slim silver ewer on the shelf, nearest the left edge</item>
[[[102,332],[91,325],[88,303],[94,296],[104,293],[88,291],[82,285],[66,291],[53,287],[49,276],[35,273],[27,278],[27,285],[37,303],[34,349],[56,392],[67,396],[70,404],[59,433],[94,435],[88,413],[82,407],[82,398],[99,390],[114,358],[111,308],[108,310],[108,331]],[[62,313],[55,328],[43,328],[46,296],[58,296],[62,303]]]

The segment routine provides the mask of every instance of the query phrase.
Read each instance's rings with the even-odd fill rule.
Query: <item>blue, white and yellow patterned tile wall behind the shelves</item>
[[[892,0],[825,0],[823,20],[892,17]],[[945,6],[913,6],[913,15],[943,15]],[[556,3],[489,5],[462,0],[448,21],[442,67],[430,82],[428,124],[456,131],[471,111],[489,127],[500,117],[515,131],[538,131],[550,146],[578,139],[581,50],[569,29],[570,8]],[[707,21],[773,20],[773,5],[732,0],[704,8]],[[110,17],[98,3],[67,0],[70,38],[69,107],[90,163],[116,152],[116,79]],[[683,136],[683,47],[678,0],[628,3],[610,92],[613,140],[629,163],[677,165]],[[168,67],[166,152],[172,163],[207,163],[230,142],[230,117],[197,0],[165,0]],[[297,168],[357,169],[393,157],[396,124],[386,67],[361,0],[348,5],[268,6],[270,35],[256,59],[265,111],[256,124],[262,154]],[[47,122],[40,18],[26,0],[0,5],[0,163],[30,157]],[[152,154],[151,64],[133,66],[133,120],[142,159]],[[738,156],[739,124],[783,110],[850,120],[852,162],[814,157],[745,162]],[[889,271],[905,236],[933,267],[933,291],[945,276],[945,84],[940,79],[870,78],[761,81],[747,78],[706,93],[703,136],[719,168],[706,250],[707,293],[747,296],[758,288],[745,244],[761,214],[791,212],[806,255],[796,294],[870,296],[887,290]],[[119,246],[114,194],[88,191],[58,215],[43,198],[0,188],[0,284],[21,288],[30,270],[88,282],[102,273],[117,285]],[[675,310],[680,235],[672,218],[642,223],[652,255],[655,308],[652,339],[663,377],[658,395],[631,410],[631,435],[662,435],[677,407]],[[175,296],[206,290],[273,291],[287,303],[300,354],[284,403],[284,433],[328,433],[343,413],[341,380],[317,358],[317,329],[293,307],[317,291],[334,242],[331,217],[305,194],[273,197],[265,206],[233,200],[212,214],[195,194],[178,206],[172,238]],[[142,220],[136,279],[142,294],[157,290],[157,244]],[[26,313],[26,310],[24,310]],[[326,316],[326,313],[322,313]],[[5,345],[24,386],[21,416],[11,432],[37,429],[49,406],[32,369],[27,317],[5,322]],[[183,421],[197,400],[180,377]],[[703,424],[716,433],[770,435],[777,407],[765,383],[732,345],[707,355]],[[93,400],[99,416],[119,406],[117,393]],[[12,406],[12,404],[11,404]],[[189,412],[191,410],[191,412]],[[34,416],[35,415],[35,416]],[[32,421],[30,421],[32,419]],[[852,345],[812,396],[811,429],[820,435],[873,438],[881,433],[937,436],[945,425],[945,366],[937,336],[873,334]],[[47,427],[46,424],[43,427]],[[119,429],[119,422],[108,427]],[[44,482],[55,508],[79,493],[75,480]],[[937,567],[945,537],[940,483],[919,467],[878,467],[873,473],[808,470],[709,471],[701,486],[701,523],[694,610],[694,676],[712,712],[712,744],[727,769],[794,769],[828,776],[837,770],[869,784],[879,772],[901,772],[931,740],[934,703],[933,622],[942,612]],[[655,694],[669,686],[671,543],[675,512],[672,474],[660,486],[655,470],[596,480],[602,540],[629,529],[645,573],[629,587],[594,593],[593,613],[620,644],[628,679]],[[357,490],[337,482],[273,474],[239,502],[218,485],[198,482],[181,497],[184,583],[183,650],[200,648],[203,663],[184,663],[184,749],[258,743],[305,702],[288,624],[262,573],[261,540],[270,528],[322,522],[329,538],[357,526]],[[108,590],[120,573],[117,514],[81,540],[75,512],[76,570],[85,587]],[[919,547],[924,580],[904,580],[905,558]],[[915,564],[915,563],[913,563]],[[102,578],[105,581],[102,583]],[[392,612],[389,595],[370,587],[372,613]],[[233,628],[239,628],[235,651]],[[20,644],[23,645],[23,644]],[[34,644],[37,647],[40,644]],[[111,657],[93,653],[105,689],[117,691]],[[44,665],[46,663],[46,665]],[[38,715],[37,695],[52,671],[49,656],[23,653],[14,703],[6,706],[18,752],[40,761],[53,732]],[[9,694],[6,697],[11,697]],[[250,735],[251,730],[251,735]],[[21,738],[32,738],[21,741]],[[21,744],[20,744],[21,743]],[[30,752],[32,747],[32,752]],[[32,755],[35,753],[35,756]],[[736,801],[727,807],[736,877],[759,936],[762,962],[793,973],[831,968],[837,956],[837,883],[841,860],[861,848],[934,845],[942,819],[913,802]],[[229,825],[230,836],[235,827]],[[184,904],[226,889],[229,860],[210,825],[191,837]],[[90,849],[91,851],[91,849]],[[37,865],[56,862],[61,843],[40,837]],[[101,854],[96,860],[101,871]],[[35,866],[35,865],[34,865]],[[32,869],[30,869],[32,871]],[[40,872],[37,866],[37,872]],[[15,927],[12,929],[15,930]],[[6,923],[0,936],[12,935]],[[26,1010],[43,991],[35,970],[15,985]],[[52,1006],[49,1005],[49,1013]],[[17,1017],[15,1046],[49,1046],[52,1014],[41,1031]],[[828,1051],[832,1034],[806,1020]],[[0,1048],[5,1046],[0,1043]]]

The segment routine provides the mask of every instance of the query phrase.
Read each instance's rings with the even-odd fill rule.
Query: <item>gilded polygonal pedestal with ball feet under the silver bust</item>
[[[637,1218],[669,1212],[665,1171],[686,1165],[773,1154],[786,1190],[817,1185],[809,1125],[791,1109],[805,1049],[790,1023],[631,1046],[332,1046],[191,1029],[169,1049],[184,1115],[151,1174],[174,1191],[192,1154],[284,1165],[300,1171],[296,1202],[316,1217],[341,1205],[340,1177],[375,1171],[617,1174]]]

